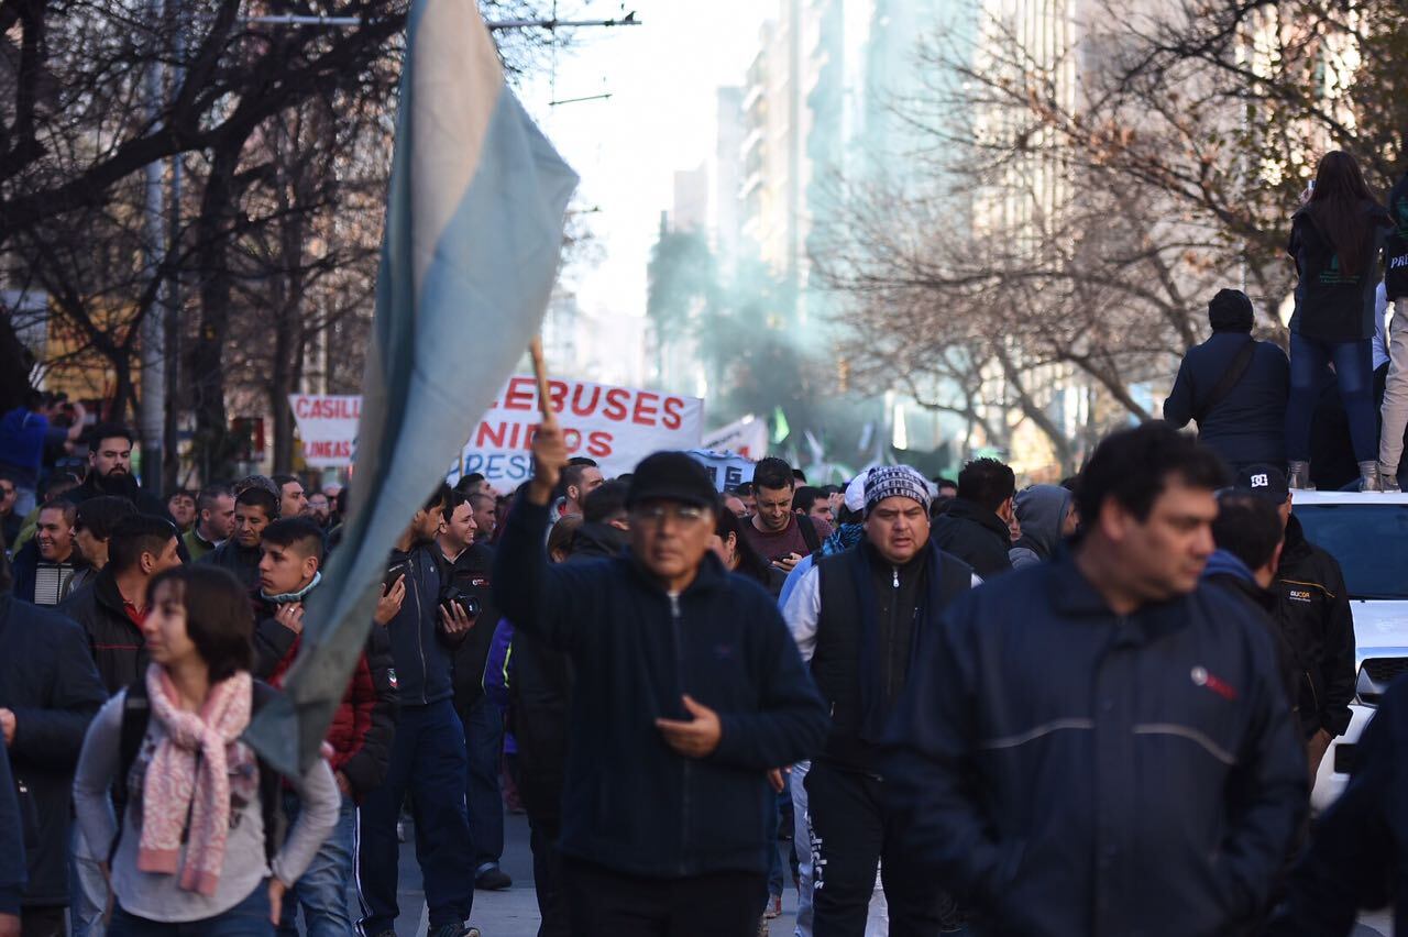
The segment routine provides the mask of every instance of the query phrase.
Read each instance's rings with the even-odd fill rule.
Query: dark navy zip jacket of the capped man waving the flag
[[[669,595],[631,557],[548,566],[548,508],[520,498],[494,581],[518,635],[567,653],[576,684],[562,851],[617,872],[679,878],[769,868],[776,796],[767,770],[815,754],[826,710],[767,592],[707,553]],[[714,709],[712,754],[686,758],[658,718]]]

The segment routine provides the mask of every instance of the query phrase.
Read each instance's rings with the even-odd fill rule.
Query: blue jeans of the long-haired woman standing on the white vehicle
[[[1291,332],[1291,395],[1286,407],[1286,457],[1311,459],[1311,418],[1321,387],[1335,364],[1335,381],[1349,416],[1354,461],[1378,459],[1378,421],[1374,416],[1373,346],[1363,342],[1322,342]]]

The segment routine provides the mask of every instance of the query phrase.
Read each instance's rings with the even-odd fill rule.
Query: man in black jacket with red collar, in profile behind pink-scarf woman
[[[146,675],[141,627],[146,618],[146,585],[158,573],[180,566],[176,547],[170,521],[128,515],[113,528],[107,566],[59,605],[61,612],[83,627],[108,695]]]

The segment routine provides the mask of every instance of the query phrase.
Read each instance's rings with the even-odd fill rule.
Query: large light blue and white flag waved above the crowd
[[[277,770],[318,756],[391,546],[538,331],[576,184],[504,82],[474,0],[413,0],[352,519],[308,597],[284,698],[246,732]]]

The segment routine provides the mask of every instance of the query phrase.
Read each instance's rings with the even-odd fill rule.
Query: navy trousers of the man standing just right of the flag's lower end
[[[401,853],[396,820],[407,792],[431,930],[469,917],[474,847],[465,813],[465,727],[451,701],[401,706],[386,779],[362,802],[358,891],[366,910],[363,933],[393,929],[401,912],[396,902]]]

